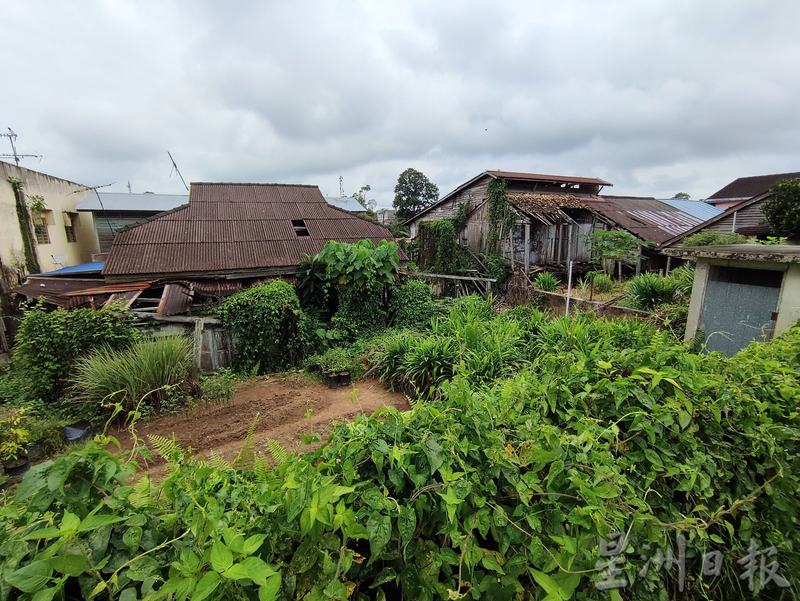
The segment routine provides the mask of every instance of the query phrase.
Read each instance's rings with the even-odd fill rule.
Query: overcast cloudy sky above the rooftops
[[[486,169],[705,198],[800,170],[800,2],[3,2],[0,129],[107,190],[442,194]],[[0,140],[0,154],[10,151]],[[3,159],[8,160],[8,159]],[[610,190],[606,190],[610,191]]]

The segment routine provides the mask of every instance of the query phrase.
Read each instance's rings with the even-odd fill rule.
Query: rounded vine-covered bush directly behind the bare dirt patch
[[[258,374],[302,359],[303,317],[294,286],[276,279],[229,296],[215,309],[238,337],[234,366]]]

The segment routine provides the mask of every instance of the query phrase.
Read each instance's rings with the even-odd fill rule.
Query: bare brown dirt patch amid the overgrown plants
[[[351,399],[353,389],[356,399]],[[234,395],[230,405],[198,408],[189,415],[169,415],[140,423],[137,433],[171,436],[183,448],[192,447],[197,455],[223,455],[234,459],[242,448],[247,430],[258,415],[255,447],[264,451],[266,439],[275,439],[286,448],[304,447],[302,434],[320,434],[326,440],[334,420],[351,421],[362,411],[370,415],[378,407],[393,405],[401,411],[410,407],[398,392],[387,391],[377,380],[354,383],[354,386],[328,388],[303,375],[267,375],[250,380]],[[123,449],[130,449],[132,439],[126,431],[116,434]],[[155,458],[154,458],[155,459]],[[138,459],[142,463],[141,459]],[[149,467],[154,478],[163,474],[163,461],[156,459]]]

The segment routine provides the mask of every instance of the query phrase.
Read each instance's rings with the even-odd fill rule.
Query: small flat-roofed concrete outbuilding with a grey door
[[[729,357],[800,319],[800,246],[732,244],[662,249],[697,261],[686,341]]]

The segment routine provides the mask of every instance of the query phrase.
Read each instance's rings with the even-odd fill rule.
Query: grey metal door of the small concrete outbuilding
[[[780,288],[736,282],[706,282],[700,315],[706,351],[735,355],[753,340],[768,340]]]

